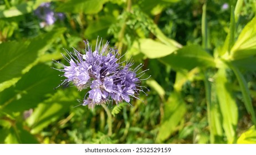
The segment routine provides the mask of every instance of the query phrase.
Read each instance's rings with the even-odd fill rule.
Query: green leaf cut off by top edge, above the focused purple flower
[[[70,0],[61,4],[56,11],[57,12],[71,12],[71,13],[85,13],[95,14],[103,9],[103,4],[109,0]]]

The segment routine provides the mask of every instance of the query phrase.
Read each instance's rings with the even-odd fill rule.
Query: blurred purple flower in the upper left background
[[[40,27],[45,27],[45,25],[52,25],[56,22],[57,19],[64,19],[64,13],[54,12],[50,3],[40,4],[40,6],[35,9],[34,13],[40,20],[43,21],[40,23]]]

